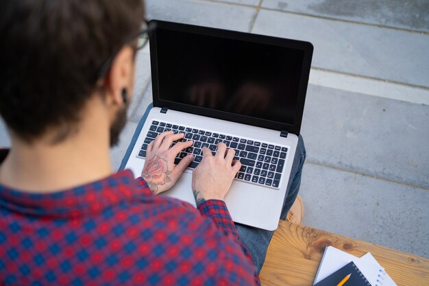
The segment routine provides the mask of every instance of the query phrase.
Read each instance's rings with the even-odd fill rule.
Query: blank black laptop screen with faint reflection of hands
[[[304,51],[160,28],[156,45],[160,99],[294,123]]]

